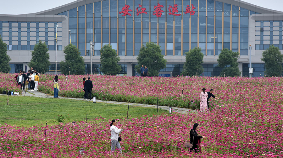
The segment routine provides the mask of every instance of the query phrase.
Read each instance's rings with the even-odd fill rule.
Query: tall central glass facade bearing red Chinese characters
[[[158,44],[162,54],[186,55],[201,47],[204,55],[219,55],[223,48],[248,54],[250,12],[213,0],[105,0],[58,15],[69,18],[71,42],[81,55],[94,55],[105,44],[117,55],[138,55],[146,42]]]

